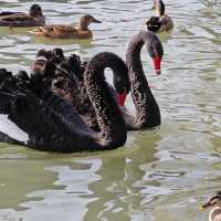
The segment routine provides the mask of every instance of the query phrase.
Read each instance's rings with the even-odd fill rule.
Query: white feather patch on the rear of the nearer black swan
[[[0,114],[0,131],[25,144],[29,140],[29,135],[11,122],[8,115]]]

